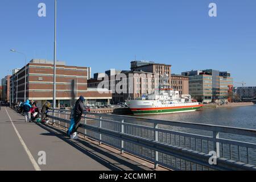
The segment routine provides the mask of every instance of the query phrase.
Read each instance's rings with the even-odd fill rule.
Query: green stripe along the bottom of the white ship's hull
[[[133,114],[164,114],[164,113],[175,113],[181,111],[192,111],[200,109],[201,107],[189,107],[181,109],[163,109],[163,110],[134,110]]]

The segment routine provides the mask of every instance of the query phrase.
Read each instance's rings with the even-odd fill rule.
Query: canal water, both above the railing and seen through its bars
[[[151,119],[162,119],[167,121],[183,121],[183,122],[193,122],[193,123],[205,123],[211,125],[221,125],[230,127],[241,127],[246,129],[256,129],[256,105],[253,106],[242,106],[242,107],[221,107],[217,109],[201,109],[199,111],[190,113],[174,113],[174,114],[160,114],[160,115],[139,115],[139,117],[151,118]],[[107,115],[103,119],[113,120],[112,115]],[[152,123],[143,122],[140,119],[125,118],[127,123],[135,123],[137,125],[150,126]],[[99,126],[98,121],[88,121],[89,125]],[[121,126],[117,123],[109,123],[102,121],[102,127],[105,129],[113,131],[121,131]],[[159,128],[181,131],[184,133],[191,133],[204,136],[212,136],[211,131],[205,130],[195,130],[188,129],[184,127],[174,127],[169,125],[159,125]],[[154,140],[154,131],[151,129],[139,129],[135,126],[125,126],[124,133],[134,135],[137,137],[147,138]],[[94,131],[88,131],[88,134],[98,139],[100,135]],[[242,142],[256,143],[255,137],[246,137],[242,135],[226,134],[220,133],[221,138],[239,140]],[[102,140],[117,148],[121,146],[121,139],[109,137],[107,135],[102,135]],[[208,142],[208,140],[196,139],[195,137],[185,138],[179,134],[168,134],[166,132],[159,132],[159,142],[171,144],[178,147],[188,148],[191,150],[203,152],[208,154],[209,151],[214,150],[213,142]],[[124,142],[124,150],[128,152],[133,152],[133,154],[138,154],[144,158],[155,159],[155,151],[153,149],[143,147],[140,144]],[[238,154],[239,152],[239,154]],[[229,145],[225,143],[220,143],[220,155],[226,159],[233,159],[236,161],[241,161],[243,163],[256,164],[256,149],[249,148],[248,152],[245,147]],[[249,160],[247,161],[247,158]],[[192,170],[204,170],[203,167],[197,168],[195,164],[191,162],[186,163],[185,160],[175,158],[174,156],[163,154],[159,152],[159,162],[160,164],[165,164],[168,167],[175,169],[185,170],[186,168]],[[206,168],[208,169],[208,168]]]

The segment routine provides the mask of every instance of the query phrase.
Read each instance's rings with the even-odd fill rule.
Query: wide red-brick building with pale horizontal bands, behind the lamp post
[[[97,90],[87,88],[87,67],[76,67],[65,65],[65,62],[56,63],[56,102],[57,107],[69,107],[72,100],[72,93],[75,92],[76,99],[81,95],[86,102],[90,100],[104,100],[108,102],[112,97],[111,93],[100,94]],[[13,75],[10,80],[14,81],[14,101],[24,101],[25,67]],[[71,88],[71,82],[75,80],[76,87]],[[53,97],[53,61],[33,59],[27,64],[27,86],[26,99],[43,102],[52,102]],[[13,92],[12,92],[13,91]]]

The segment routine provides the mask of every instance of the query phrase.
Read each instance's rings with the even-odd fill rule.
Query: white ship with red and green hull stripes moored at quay
[[[127,100],[133,114],[167,114],[196,111],[203,105],[192,100],[190,95],[179,95],[172,89],[159,89],[158,94],[143,96],[138,100]]]

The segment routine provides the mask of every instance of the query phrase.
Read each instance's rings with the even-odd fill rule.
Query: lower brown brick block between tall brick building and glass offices
[[[183,94],[189,94],[189,78],[182,75],[171,75],[171,88],[175,91],[179,91],[180,96]]]

